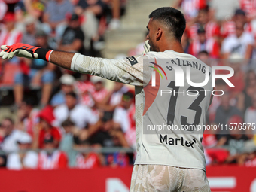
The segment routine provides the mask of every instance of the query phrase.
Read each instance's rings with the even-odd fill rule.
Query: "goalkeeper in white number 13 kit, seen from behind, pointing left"
[[[196,59],[184,53],[181,46],[181,36],[186,27],[184,15],[175,8],[157,8],[149,15],[148,41],[142,56],[131,56],[126,59],[102,59],[84,56],[78,53],[66,53],[57,50],[46,50],[26,44],[2,45],[0,56],[11,59],[14,55],[31,59],[44,59],[65,69],[75,72],[98,75],[111,81],[134,85],[136,89],[136,151],[137,157],[133,168],[130,191],[210,191],[205,172],[205,157],[200,134],[159,133],[143,134],[143,124],[175,123],[181,126],[184,121],[194,120],[205,123],[206,111],[209,106],[210,94],[206,96],[173,96],[166,94],[159,97],[149,79],[143,79],[145,69],[143,59]],[[150,50],[149,50],[150,47]],[[202,66],[206,66],[203,62]],[[156,64],[157,65],[157,64]],[[161,66],[157,65],[160,69]],[[185,67],[183,67],[185,68]],[[152,72],[153,68],[148,68]],[[190,69],[196,81],[202,82],[204,75],[200,70]],[[148,73],[146,72],[146,73]],[[175,81],[174,70],[166,72],[168,81]],[[149,74],[149,73],[148,73]],[[159,75],[157,82],[159,83]],[[160,81],[160,87],[164,86]],[[195,82],[195,81],[194,81]],[[173,84],[168,87],[176,89]],[[181,89],[189,89],[186,83]],[[212,89],[211,82],[200,89]],[[175,99],[174,99],[175,98]],[[193,103],[192,108],[189,106]],[[160,108],[163,108],[160,110]],[[169,107],[168,107],[169,106]],[[175,106],[177,110],[175,110]],[[192,106],[192,105],[191,105]],[[179,110],[180,108],[186,111]],[[191,112],[189,112],[191,111]],[[187,114],[187,119],[180,120]],[[196,115],[195,115],[196,114]],[[143,123],[142,123],[143,122]],[[175,141],[175,142],[173,142]]]

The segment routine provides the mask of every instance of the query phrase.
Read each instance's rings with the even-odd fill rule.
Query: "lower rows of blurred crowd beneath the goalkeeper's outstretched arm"
[[[16,118],[0,126],[1,166],[8,169],[59,169],[129,166],[135,149],[134,90],[105,79],[84,75],[83,81],[64,74],[60,90],[42,109],[27,96]],[[101,148],[130,148],[101,154]],[[35,150],[38,150],[37,153]]]

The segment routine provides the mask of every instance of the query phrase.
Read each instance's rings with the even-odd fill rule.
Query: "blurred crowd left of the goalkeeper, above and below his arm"
[[[0,1],[0,44],[31,44],[100,56],[106,30],[120,28],[126,1]],[[41,59],[0,61],[0,85],[12,79],[13,113],[0,122],[0,166],[59,169],[128,166],[135,148],[134,90],[60,69]],[[9,78],[9,77],[7,77]],[[40,90],[40,96],[30,93]],[[37,97],[37,96],[36,96]],[[131,148],[96,153],[102,147]],[[89,151],[88,151],[89,150]]]

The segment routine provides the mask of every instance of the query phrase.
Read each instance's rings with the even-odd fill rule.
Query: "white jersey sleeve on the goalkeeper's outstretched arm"
[[[111,81],[143,86],[143,59],[149,56],[131,56],[126,59],[102,59],[75,53],[71,70],[97,75]]]

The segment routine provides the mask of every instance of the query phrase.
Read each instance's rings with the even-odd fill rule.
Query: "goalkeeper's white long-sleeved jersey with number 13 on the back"
[[[201,141],[212,94],[211,70],[205,63],[172,50],[126,59],[76,53],[71,69],[135,86],[135,164],[205,170]],[[205,85],[193,86],[203,81]]]

